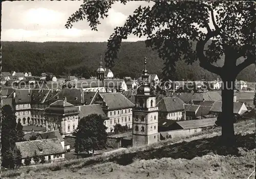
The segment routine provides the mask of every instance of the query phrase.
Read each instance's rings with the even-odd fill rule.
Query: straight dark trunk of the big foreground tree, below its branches
[[[234,97],[234,80],[223,80],[222,84],[222,115],[221,141],[225,146],[234,146],[236,136],[234,135],[234,116],[233,116],[233,97]]]

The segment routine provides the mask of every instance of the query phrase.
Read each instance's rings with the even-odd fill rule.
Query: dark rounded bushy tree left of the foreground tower
[[[91,114],[81,118],[73,133],[76,136],[75,152],[99,150],[106,147],[106,127],[101,115]]]

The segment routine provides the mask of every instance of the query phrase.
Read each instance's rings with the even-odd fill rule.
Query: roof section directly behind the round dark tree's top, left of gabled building
[[[91,114],[98,114],[98,115],[101,115],[103,118],[107,117],[106,114],[103,112],[100,104],[79,106],[79,108],[80,108],[80,113],[79,113],[80,118],[86,117]]]

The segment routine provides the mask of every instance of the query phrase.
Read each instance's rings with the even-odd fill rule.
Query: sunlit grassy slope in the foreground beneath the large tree
[[[254,120],[235,124],[238,147],[217,146],[221,128],[125,151],[3,171],[2,178],[247,178],[254,170]],[[231,153],[231,155],[230,155]],[[251,176],[251,178],[253,178]]]

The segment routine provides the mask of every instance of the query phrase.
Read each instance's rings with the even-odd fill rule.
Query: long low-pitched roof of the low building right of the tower
[[[215,126],[217,118],[204,118],[202,120],[188,120],[188,121],[178,121],[176,122],[183,129],[195,129],[201,127]]]

